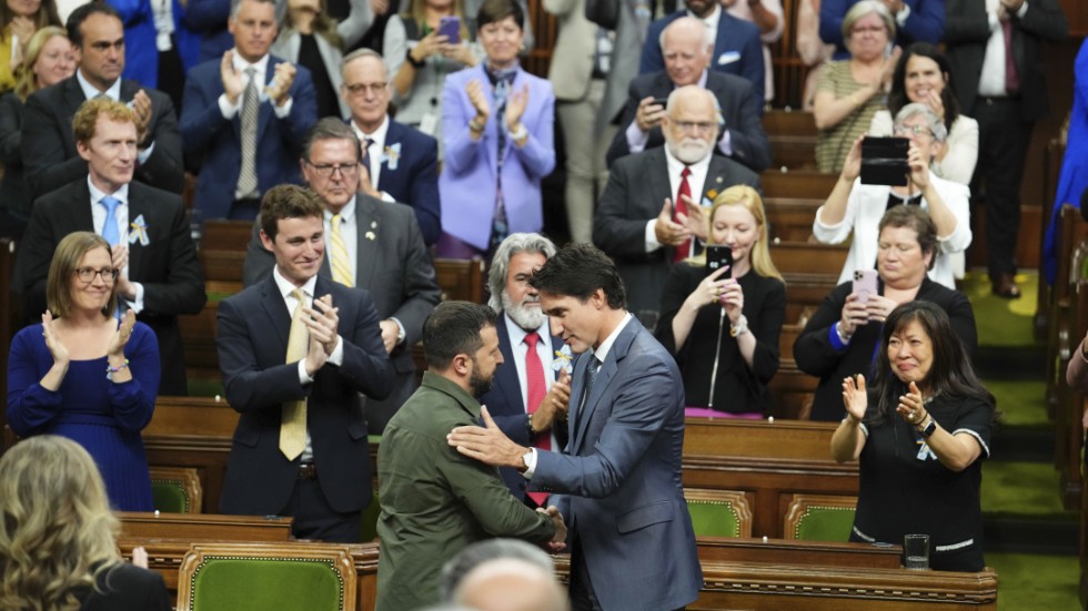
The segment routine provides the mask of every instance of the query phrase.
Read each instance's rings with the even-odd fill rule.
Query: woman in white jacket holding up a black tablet
[[[900,204],[919,205],[937,227],[938,251],[929,272],[934,282],[956,288],[950,253],[965,251],[971,243],[970,190],[937,177],[929,167],[944,150],[948,132],[944,122],[925,104],[910,103],[895,118],[895,135],[910,141],[907,152],[909,174],[906,186],[862,184],[862,140],[850,146],[838,182],[824,205],[816,211],[813,235],[824,244],[842,244],[852,235],[850,252],[838,282],[853,277],[856,269],[872,269],[877,255],[877,227],[885,211]]]

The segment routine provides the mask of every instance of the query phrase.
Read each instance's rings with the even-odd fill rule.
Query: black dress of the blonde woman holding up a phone
[[[742,313],[756,338],[753,366],[749,368],[741,356],[736,339],[729,335],[728,316],[723,317],[723,309],[718,306],[707,305],[699,309],[687,340],[676,349],[673,318],[704,277],[706,268],[702,265],[681,263],[669,269],[655,334],[657,340],[676,358],[684,378],[686,404],[688,407],[709,407],[729,414],[767,414],[772,408],[767,383],[778,370],[778,335],[786,316],[786,287],[777,278],[764,277],[755,272],[737,278],[744,291]],[[712,397],[715,363],[717,376],[714,377]]]

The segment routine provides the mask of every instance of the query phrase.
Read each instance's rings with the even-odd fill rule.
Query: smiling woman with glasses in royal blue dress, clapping
[[[151,511],[140,431],[159,391],[154,332],[115,317],[117,275],[101,236],[74,232],[49,266],[49,309],[11,340],[8,425],[19,437],[68,437],[94,457],[114,509]]]

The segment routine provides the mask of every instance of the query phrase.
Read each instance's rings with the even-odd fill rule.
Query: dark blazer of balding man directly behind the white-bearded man
[[[752,83],[721,72],[707,72],[706,89],[714,94],[725,120],[725,129],[729,130],[729,143],[733,147],[731,159],[748,166],[754,172],[763,172],[770,165],[770,141],[763,129],[763,93],[752,86]],[[642,74],[631,81],[627,94],[627,105],[623,109],[619,120],[619,131],[612,139],[606,160],[608,166],[619,157],[631,154],[627,145],[627,128],[634,123],[638,112],[638,102],[644,98],[668,98],[673,92],[673,81],[664,70],[653,74]],[[718,135],[721,140],[721,134]],[[646,149],[665,144],[661,128],[649,131]],[[722,154],[717,144],[714,152]]]

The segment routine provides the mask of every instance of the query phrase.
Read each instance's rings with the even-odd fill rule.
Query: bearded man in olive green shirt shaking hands
[[[562,548],[563,517],[532,510],[510,493],[498,470],[457,452],[446,435],[475,425],[473,398],[503,361],[492,309],[440,304],[423,326],[427,373],[382,436],[377,486],[377,611],[413,611],[439,602],[442,566],[470,543],[513,537]]]

